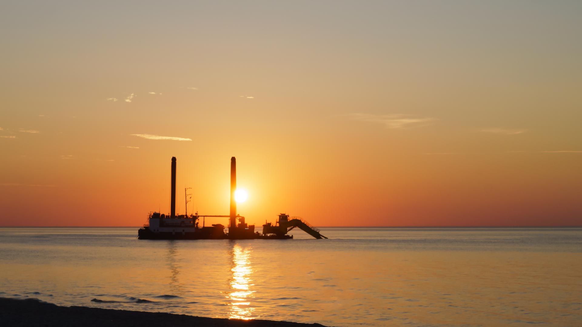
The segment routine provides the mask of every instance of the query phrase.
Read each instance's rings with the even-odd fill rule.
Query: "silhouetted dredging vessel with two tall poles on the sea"
[[[316,239],[327,239],[320,230],[300,217],[279,214],[275,224],[265,222],[262,233],[255,232],[254,225],[248,225],[244,216],[236,213],[236,158],[230,159],[230,214],[229,215],[176,215],[176,157],[172,157],[170,214],[153,212],[148,215],[148,223],[137,231],[137,238],[143,240],[208,240],[208,239],[292,239],[288,232],[294,228],[304,230]],[[198,226],[200,218],[229,218],[228,232],[220,223],[212,226]],[[239,223],[236,223],[239,221]]]

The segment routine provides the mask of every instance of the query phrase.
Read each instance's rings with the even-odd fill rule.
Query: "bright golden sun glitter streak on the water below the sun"
[[[254,319],[250,298],[253,297],[254,291],[250,290],[253,286],[249,276],[253,273],[253,267],[250,266],[251,247],[243,248],[235,244],[232,248],[233,266],[232,278],[230,279],[230,291],[227,292],[230,306],[230,318],[234,319]]]

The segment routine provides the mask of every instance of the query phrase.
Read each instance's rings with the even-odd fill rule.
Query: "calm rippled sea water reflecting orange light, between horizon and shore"
[[[582,326],[581,228],[321,228],[137,240],[0,228],[0,297],[327,326]]]

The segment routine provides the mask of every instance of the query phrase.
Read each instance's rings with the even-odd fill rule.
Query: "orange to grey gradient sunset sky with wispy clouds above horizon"
[[[3,1],[0,226],[582,225],[580,1]],[[161,139],[160,139],[161,138]],[[216,219],[208,223],[221,222]]]

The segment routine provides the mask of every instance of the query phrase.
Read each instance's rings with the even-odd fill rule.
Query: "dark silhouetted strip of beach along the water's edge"
[[[87,307],[59,307],[36,298],[17,300],[0,298],[0,322],[3,326],[323,326],[299,322],[240,320],[194,317],[189,315],[112,310]]]

